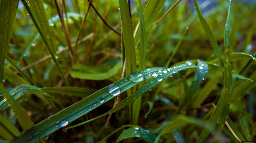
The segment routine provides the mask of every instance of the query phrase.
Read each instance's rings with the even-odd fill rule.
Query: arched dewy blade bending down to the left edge
[[[11,97],[14,100],[19,99],[23,95],[26,94],[41,94],[50,98],[53,98],[51,95],[47,94],[46,92],[42,91],[40,88],[37,88],[35,86],[31,85],[19,85],[16,86],[16,88],[12,89],[11,91],[8,92]],[[0,101],[0,110],[4,110],[5,108],[9,107],[10,104],[7,102],[6,98],[4,98],[2,101]]]

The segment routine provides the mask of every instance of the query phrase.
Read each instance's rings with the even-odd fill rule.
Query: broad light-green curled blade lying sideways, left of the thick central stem
[[[109,64],[96,67],[85,67],[78,65],[71,70],[71,76],[79,79],[104,80],[118,73],[122,68],[122,62],[118,61],[115,66],[109,70]]]

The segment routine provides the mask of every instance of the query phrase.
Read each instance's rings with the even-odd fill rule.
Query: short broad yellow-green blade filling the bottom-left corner
[[[0,114],[0,136],[5,141],[11,141],[11,139],[20,135],[20,131],[13,126],[5,117]]]

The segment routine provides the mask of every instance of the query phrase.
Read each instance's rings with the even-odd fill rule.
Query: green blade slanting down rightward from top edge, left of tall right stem
[[[203,17],[203,14],[200,11],[197,0],[194,0],[194,4],[195,4],[195,10],[197,10],[198,17],[200,19],[200,22],[201,22],[203,28],[204,28],[204,31],[206,32],[206,35],[210,41],[210,44],[213,46],[213,49],[215,50],[215,52],[219,58],[219,63],[221,63],[221,66],[223,66],[223,62],[221,59],[221,52],[219,51],[219,46],[216,42],[216,39],[213,36],[212,30],[210,29],[210,26],[207,23],[207,21],[205,20],[205,18]]]

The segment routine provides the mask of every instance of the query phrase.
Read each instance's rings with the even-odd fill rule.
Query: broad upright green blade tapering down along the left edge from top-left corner
[[[19,0],[0,2],[0,84],[4,78],[4,58],[13,33]]]

